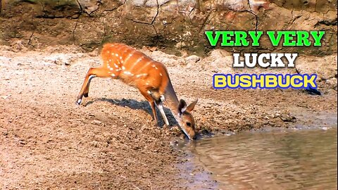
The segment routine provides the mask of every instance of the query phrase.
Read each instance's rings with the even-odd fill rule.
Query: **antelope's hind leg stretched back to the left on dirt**
[[[88,97],[89,93],[89,84],[94,77],[110,77],[109,73],[105,68],[89,68],[86,77],[84,78],[84,82],[82,84],[82,88],[80,90],[79,95],[77,96],[77,105],[80,105],[82,101],[82,96]]]

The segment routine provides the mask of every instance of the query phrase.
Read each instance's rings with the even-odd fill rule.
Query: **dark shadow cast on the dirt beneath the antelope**
[[[121,107],[127,107],[131,108],[133,110],[144,110],[146,113],[151,115],[153,117],[153,112],[151,111],[151,107],[149,105],[148,101],[136,101],[134,99],[106,99],[106,98],[99,98],[99,99],[94,99],[92,101],[88,101],[85,106],[89,106],[90,104],[94,103],[95,101],[106,101],[108,103],[111,103],[116,106],[121,106]],[[164,107],[164,106],[163,106]],[[168,108],[163,108],[165,115],[168,118],[169,124],[170,125],[178,125],[177,121],[175,120],[173,113],[171,113],[171,110]],[[162,118],[161,113],[159,112],[158,108],[156,108],[156,113],[158,117],[158,125],[163,126],[164,121]],[[153,117],[154,118],[154,117]]]

